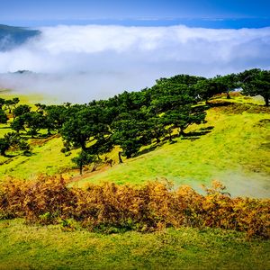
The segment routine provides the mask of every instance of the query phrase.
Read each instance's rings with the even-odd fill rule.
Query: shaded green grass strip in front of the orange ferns
[[[0,269],[268,269],[270,242],[220,229],[102,235],[0,221]]]

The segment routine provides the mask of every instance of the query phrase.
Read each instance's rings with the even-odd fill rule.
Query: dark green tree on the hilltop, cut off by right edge
[[[270,71],[260,70],[251,75],[243,82],[243,94],[263,96],[266,107],[269,106],[270,99]]]

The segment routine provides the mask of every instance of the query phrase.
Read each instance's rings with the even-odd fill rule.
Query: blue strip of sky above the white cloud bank
[[[270,24],[269,10],[266,0],[0,0],[0,23],[264,27]]]

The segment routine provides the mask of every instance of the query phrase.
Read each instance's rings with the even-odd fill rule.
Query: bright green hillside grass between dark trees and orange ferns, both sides
[[[232,103],[260,103],[245,97],[235,97]],[[118,184],[142,184],[145,181],[166,177],[178,184],[190,184],[200,189],[201,184],[210,184],[218,179],[229,188],[233,195],[269,197],[269,124],[260,121],[270,119],[269,113],[226,113],[227,107],[212,108],[208,111],[207,123],[193,125],[189,131],[200,131],[214,127],[199,139],[176,139],[155,151],[125,160],[112,169],[85,175],[79,182],[113,181]],[[1,129],[2,127],[2,129]],[[6,126],[0,127],[0,137]],[[29,178],[39,173],[55,174],[72,166],[71,157],[60,153],[62,141],[49,139],[43,145],[33,145],[31,157],[17,156],[12,159],[0,157],[0,177],[14,175]],[[117,151],[109,156],[117,162]],[[71,171],[70,175],[77,174]]]

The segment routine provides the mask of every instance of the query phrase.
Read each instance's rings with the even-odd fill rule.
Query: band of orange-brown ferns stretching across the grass
[[[76,227],[74,220],[106,233],[189,226],[236,229],[248,237],[269,238],[269,200],[231,198],[224,188],[214,182],[202,195],[189,186],[174,190],[160,182],[139,187],[90,184],[79,189],[67,187],[55,176],[40,176],[35,182],[12,179],[0,186],[0,218],[24,217],[44,225],[60,222],[67,230]]]

